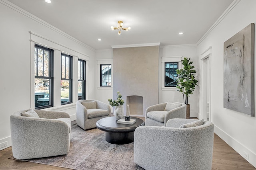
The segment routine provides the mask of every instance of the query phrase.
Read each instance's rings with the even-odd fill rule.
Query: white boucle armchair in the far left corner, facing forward
[[[82,129],[96,127],[96,122],[109,117],[110,106],[98,100],[78,100],[76,102],[76,123]]]

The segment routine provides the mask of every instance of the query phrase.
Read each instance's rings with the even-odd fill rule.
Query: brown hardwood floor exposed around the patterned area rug
[[[212,170],[256,170],[240,154],[214,134]],[[67,170],[56,166],[8,159],[12,147],[0,151],[0,170]]]

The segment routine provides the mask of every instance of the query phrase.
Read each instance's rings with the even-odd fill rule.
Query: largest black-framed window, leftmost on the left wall
[[[53,50],[39,45],[34,48],[35,109],[53,106]]]

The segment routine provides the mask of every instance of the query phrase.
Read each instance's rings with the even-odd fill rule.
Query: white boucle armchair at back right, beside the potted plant
[[[169,119],[186,119],[187,106],[179,102],[165,102],[146,109],[145,125],[165,126]]]

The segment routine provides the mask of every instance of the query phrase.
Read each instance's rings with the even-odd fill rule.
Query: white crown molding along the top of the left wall
[[[7,6],[7,7],[9,7],[9,8],[11,8],[12,10],[15,10],[16,12],[18,12],[18,13],[20,13],[20,14],[22,14],[22,15],[24,15],[24,16],[26,16],[26,17],[28,17],[28,18],[30,18],[30,19],[32,19],[32,20],[34,20],[34,21],[36,21],[36,22],[38,22],[38,23],[40,23],[40,24],[42,24],[42,25],[44,25],[44,26],[46,26],[48,28],[50,28],[50,29],[52,29],[53,31],[63,35],[64,37],[67,37],[68,39],[70,39],[70,40],[72,40],[72,41],[74,41],[74,42],[76,42],[76,43],[78,43],[78,44],[80,44],[80,45],[82,45],[82,46],[84,46],[84,47],[86,47],[86,48],[88,48],[88,49],[90,49],[90,50],[95,52],[95,49],[93,49],[92,47],[90,47],[87,44],[83,43],[82,41],[79,41],[78,39],[76,39],[76,38],[72,37],[71,35],[61,31],[60,29],[54,27],[53,25],[50,25],[50,23],[47,23],[46,21],[41,20],[40,18],[34,16],[33,14],[30,14],[26,10],[24,10],[24,9],[14,5],[14,4],[12,4],[8,0],[0,0],[0,3],[5,5],[5,6]]]

